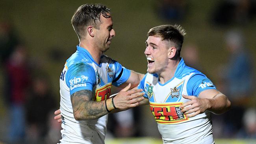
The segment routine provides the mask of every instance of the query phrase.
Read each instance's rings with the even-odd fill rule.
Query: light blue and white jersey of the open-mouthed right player
[[[164,84],[157,74],[147,73],[138,85],[150,103],[164,144],[213,144],[210,112],[188,118],[180,105],[189,101],[182,94],[198,96],[207,89],[216,89],[204,74],[185,65],[181,59],[174,77]]]

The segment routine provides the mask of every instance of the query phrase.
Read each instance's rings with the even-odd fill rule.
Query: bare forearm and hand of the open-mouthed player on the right
[[[193,117],[205,111],[222,114],[228,111],[231,106],[228,98],[215,89],[200,92],[198,98],[196,96],[182,96],[190,100],[180,106],[180,109],[184,114],[187,114],[187,117]]]

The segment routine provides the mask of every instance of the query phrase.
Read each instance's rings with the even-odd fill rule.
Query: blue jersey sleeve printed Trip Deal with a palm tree
[[[79,90],[92,91],[95,83],[95,70],[87,63],[72,64],[67,70],[66,84],[70,89],[70,96]]]

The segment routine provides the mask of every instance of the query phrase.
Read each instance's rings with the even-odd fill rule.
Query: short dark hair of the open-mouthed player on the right
[[[148,31],[148,36],[160,37],[162,41],[169,41],[174,44],[178,56],[180,56],[185,35],[186,31],[180,25],[161,25]]]

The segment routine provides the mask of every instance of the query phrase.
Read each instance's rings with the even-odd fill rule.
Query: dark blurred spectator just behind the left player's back
[[[43,140],[49,131],[49,112],[56,109],[56,102],[49,89],[49,83],[45,74],[33,77],[32,94],[26,103],[26,140],[29,144],[44,143]]]

